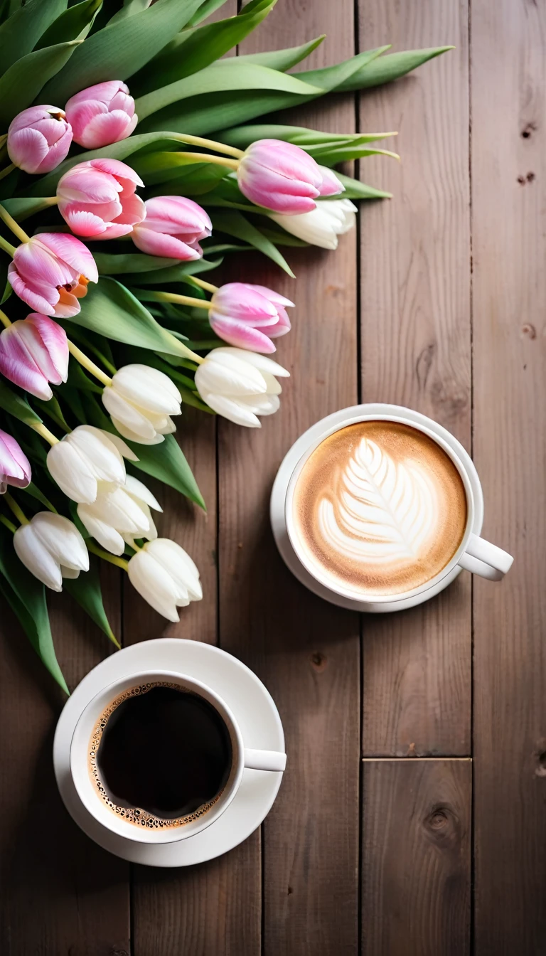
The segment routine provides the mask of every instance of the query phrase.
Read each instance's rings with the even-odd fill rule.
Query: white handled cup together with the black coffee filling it
[[[245,768],[284,771],[286,754],[245,748],[229,706],[174,671],[128,674],[80,714],[70,773],[89,814],[118,836],[172,843],[229,807]]]

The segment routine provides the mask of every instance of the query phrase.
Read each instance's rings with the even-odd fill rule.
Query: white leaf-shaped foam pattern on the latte
[[[414,461],[395,462],[362,438],[334,488],[318,503],[324,543],[363,563],[415,562],[437,527],[437,491]]]

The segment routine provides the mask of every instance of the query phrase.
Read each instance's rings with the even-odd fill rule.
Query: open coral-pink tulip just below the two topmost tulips
[[[134,169],[120,160],[88,160],[61,176],[56,187],[61,216],[78,236],[117,239],[146,214]]]

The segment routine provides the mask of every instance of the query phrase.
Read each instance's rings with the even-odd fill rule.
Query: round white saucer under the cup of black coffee
[[[195,836],[152,846],[133,842],[102,827],[80,802],[69,771],[72,735],[89,701],[102,687],[133,669],[162,667],[194,677],[217,691],[233,711],[245,747],[284,750],[284,733],[273,698],[244,663],[210,644],[163,638],[125,647],[99,663],[77,685],[55,730],[55,777],[69,814],[83,832],[105,850],[147,866],[189,866],[219,857],[251,836],[273,806],[282,773],[245,770],[238,792],[215,823]]]

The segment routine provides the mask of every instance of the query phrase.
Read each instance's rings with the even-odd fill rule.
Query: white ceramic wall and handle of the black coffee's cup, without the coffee
[[[229,731],[231,743],[231,769],[222,793],[213,806],[206,813],[191,819],[187,823],[176,827],[147,827],[123,819],[122,811],[115,813],[106,803],[96,781],[90,772],[91,738],[103,711],[115,701],[125,690],[138,687],[142,684],[158,683],[176,684],[183,690],[198,694],[220,714]],[[185,674],[173,671],[140,671],[127,674],[125,677],[109,684],[96,694],[80,714],[70,746],[70,772],[76,787],[76,792],[86,810],[98,820],[102,826],[119,836],[140,843],[173,843],[195,836],[214,823],[229,807],[231,800],[237,793],[245,768],[257,771],[282,772],[286,767],[286,753],[277,750],[249,750],[245,748],[241,730],[229,706],[207,684],[196,681]]]

